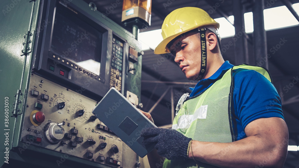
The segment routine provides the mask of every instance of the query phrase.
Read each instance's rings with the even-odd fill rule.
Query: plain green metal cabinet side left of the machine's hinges
[[[29,0],[5,0],[1,1],[2,13],[0,15],[0,99],[3,101],[0,105],[1,111],[8,106],[9,114],[3,113],[1,116],[1,135],[7,134],[7,136],[0,136],[1,142],[1,162],[9,163],[9,154],[4,153],[6,149],[11,149],[18,141],[13,140],[13,135],[16,135],[16,139],[19,136],[19,128],[22,121],[22,115],[18,117],[11,117],[12,111],[15,107],[20,109],[18,114],[24,110],[23,101],[26,97],[26,87],[28,84],[28,74],[30,72],[31,54],[22,55],[24,34],[35,29],[35,20],[37,17],[37,8],[39,1]],[[33,21],[33,22],[30,22]],[[20,90],[22,93],[19,96],[18,106],[14,106],[16,97],[14,95]],[[4,100],[7,99],[8,105],[5,105]],[[6,119],[6,120],[5,120]],[[4,123],[7,122],[7,123]],[[16,129],[15,129],[16,128]],[[4,130],[8,129],[8,130]],[[16,130],[16,131],[15,131]],[[2,152],[4,151],[4,152]],[[8,156],[4,158],[4,156]]]

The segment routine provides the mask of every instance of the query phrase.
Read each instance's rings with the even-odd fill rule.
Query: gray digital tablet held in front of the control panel
[[[115,88],[111,88],[92,113],[137,155],[143,158],[154,148],[144,146],[141,130],[157,127]]]

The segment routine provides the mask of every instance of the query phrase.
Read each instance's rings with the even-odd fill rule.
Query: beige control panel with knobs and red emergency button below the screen
[[[126,144],[91,113],[95,100],[36,74],[29,89],[23,142],[110,167],[122,165]]]

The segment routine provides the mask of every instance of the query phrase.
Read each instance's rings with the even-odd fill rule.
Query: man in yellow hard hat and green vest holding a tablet
[[[151,167],[161,167],[164,157],[170,168],[283,167],[289,135],[271,77],[260,67],[225,62],[218,28],[195,7],[164,20],[155,54],[172,53],[187,79],[199,82],[179,100],[173,129],[142,131],[143,143],[155,144]]]

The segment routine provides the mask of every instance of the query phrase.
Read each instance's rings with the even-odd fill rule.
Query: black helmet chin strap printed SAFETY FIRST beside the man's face
[[[207,69],[207,42],[206,42],[206,28],[198,28],[197,29],[200,33],[200,43],[201,43],[201,65],[200,65],[200,72],[198,77],[195,80],[201,80],[202,77],[205,75]]]

